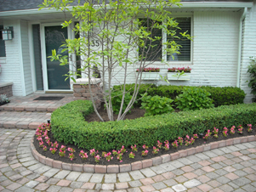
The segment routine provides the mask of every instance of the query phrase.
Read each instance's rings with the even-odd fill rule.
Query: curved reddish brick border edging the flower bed
[[[220,147],[229,146],[232,144],[242,144],[251,141],[256,141],[256,136],[247,136],[241,138],[230,138],[227,140],[222,140],[218,142],[212,142],[210,144],[204,144],[201,146],[197,146],[196,148],[190,148],[187,150],[179,150],[176,153],[166,154],[154,157],[152,159],[144,160],[144,161],[135,161],[131,164],[123,164],[123,165],[110,165],[110,166],[100,166],[100,165],[90,165],[90,164],[74,164],[74,163],[65,163],[62,161],[55,161],[53,159],[49,159],[41,154],[39,154],[34,146],[34,137],[31,138],[31,151],[37,161],[54,168],[60,168],[65,170],[71,170],[76,172],[95,172],[95,173],[119,173],[119,172],[130,172],[134,170],[143,169],[146,167],[152,167],[155,165],[159,165],[168,161],[173,161],[179,159],[181,157],[185,157],[188,155],[193,155],[196,153],[201,153],[207,150],[213,150]]]

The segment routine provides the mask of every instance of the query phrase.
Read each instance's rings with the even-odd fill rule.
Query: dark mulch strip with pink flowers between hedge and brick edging
[[[237,128],[235,130],[237,131]],[[230,132],[230,130],[229,130],[229,132]],[[43,148],[39,147],[39,142],[37,141],[37,137],[36,136],[34,136],[34,145],[35,145],[36,150],[41,155],[44,155],[44,156],[46,156],[46,157],[48,157],[50,159],[54,159],[54,160],[57,160],[57,161],[62,161],[62,162],[66,162],[66,163],[76,163],[76,164],[122,165],[122,164],[132,163],[134,161],[142,161],[142,160],[146,160],[146,159],[151,159],[152,157],[156,157],[156,156],[160,156],[160,155],[164,155],[164,154],[174,153],[174,152],[177,152],[179,150],[185,150],[185,149],[189,149],[191,147],[200,146],[202,144],[209,144],[211,142],[215,142],[215,141],[219,141],[219,140],[226,140],[226,139],[229,139],[229,138],[244,137],[244,136],[255,135],[255,134],[256,134],[255,127],[253,127],[253,132],[251,132],[251,133],[247,133],[247,127],[244,127],[242,134],[241,133],[235,133],[234,135],[230,135],[230,133],[229,133],[227,137],[224,137],[222,135],[222,132],[219,132],[219,138],[213,138],[213,134],[207,140],[203,139],[203,138],[196,138],[196,141],[195,141],[194,144],[189,145],[189,146],[185,146],[185,143],[184,143],[183,145],[179,145],[179,147],[177,149],[174,149],[171,146],[171,143],[173,141],[169,141],[170,142],[170,149],[169,150],[161,149],[161,150],[159,150],[157,155],[153,155],[152,154],[152,147],[150,147],[149,153],[145,157],[141,156],[141,152],[142,152],[143,148],[139,147],[139,148],[137,148],[138,152],[134,152],[135,153],[135,158],[134,159],[131,159],[131,158],[128,157],[129,153],[132,151],[129,148],[129,149],[127,149],[127,152],[122,155],[122,162],[118,161],[117,157],[115,156],[113,158],[113,160],[111,160],[111,161],[106,161],[104,157],[101,157],[100,162],[96,163],[95,160],[94,160],[94,157],[89,155],[89,151],[88,150],[78,149],[77,146],[75,146],[73,144],[64,144],[64,143],[59,143],[59,148],[56,151],[56,153],[53,155],[49,151],[50,147],[48,146],[48,144],[46,144],[44,138],[43,138],[43,142],[47,146],[48,150],[44,151]],[[53,134],[50,131],[48,132],[48,138],[50,138],[51,142],[53,142],[53,143],[55,142]],[[65,156],[64,157],[60,157],[60,155],[59,155],[59,150],[60,150],[60,147],[61,147],[62,144],[66,146],[66,152],[65,152]],[[71,147],[74,150],[76,150],[76,152],[74,153],[75,158],[72,161],[68,158],[69,151],[67,151],[67,148],[69,148],[69,147]],[[87,160],[82,160],[82,158],[79,156],[80,150],[83,150],[84,152],[88,153],[88,159]],[[116,149],[116,150],[120,150],[120,149]],[[101,156],[102,152],[103,151],[99,151],[98,154]],[[105,151],[105,152],[109,152],[109,151]]]

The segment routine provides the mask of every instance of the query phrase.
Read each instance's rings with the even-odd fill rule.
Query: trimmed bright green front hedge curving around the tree
[[[52,132],[65,144],[76,144],[88,150],[114,150],[122,145],[153,146],[156,140],[172,141],[186,134],[204,133],[213,127],[222,130],[235,125],[256,123],[256,104],[224,105],[218,108],[141,117],[135,120],[91,122],[83,115],[92,112],[92,103],[77,100],[54,110]]]

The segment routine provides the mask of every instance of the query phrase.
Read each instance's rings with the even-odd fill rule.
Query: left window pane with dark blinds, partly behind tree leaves
[[[151,61],[161,61],[162,60],[162,30],[153,28],[151,29],[152,25],[156,24],[156,21],[154,20],[147,20],[147,19],[139,19],[141,22],[141,26],[146,27],[145,31],[151,32],[150,37],[152,39],[155,39],[154,41],[151,41],[149,39],[143,39],[145,41],[145,47],[139,48],[139,56],[140,59]],[[160,24],[160,23],[159,23]],[[156,37],[161,37],[161,39],[157,39]]]

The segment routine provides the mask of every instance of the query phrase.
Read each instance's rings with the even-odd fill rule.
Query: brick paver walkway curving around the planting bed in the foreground
[[[256,191],[256,142],[208,150],[139,171],[71,172],[36,161],[34,130],[0,128],[1,191]]]

